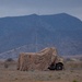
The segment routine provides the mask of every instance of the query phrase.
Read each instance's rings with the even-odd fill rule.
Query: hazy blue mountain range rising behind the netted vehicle
[[[56,47],[59,55],[82,55],[82,21],[67,13],[0,17],[0,58]]]

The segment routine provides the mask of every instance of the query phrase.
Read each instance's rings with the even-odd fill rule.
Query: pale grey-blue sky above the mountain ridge
[[[0,17],[63,12],[82,20],[82,0],[0,0]]]

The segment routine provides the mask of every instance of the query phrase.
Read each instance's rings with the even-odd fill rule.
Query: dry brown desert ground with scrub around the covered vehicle
[[[0,60],[0,82],[82,82],[82,61],[65,61],[61,71],[20,71],[17,62]]]

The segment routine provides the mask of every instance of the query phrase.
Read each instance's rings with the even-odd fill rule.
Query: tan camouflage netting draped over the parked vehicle
[[[39,52],[22,52],[17,60],[17,70],[47,70],[57,58],[57,49],[45,48]]]

